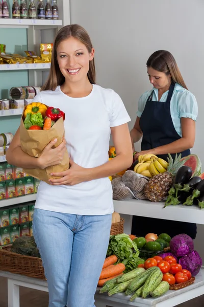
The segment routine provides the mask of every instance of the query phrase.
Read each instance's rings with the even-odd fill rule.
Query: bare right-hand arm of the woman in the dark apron
[[[166,153],[182,152],[186,149],[192,148],[195,141],[195,121],[191,118],[181,118],[182,124],[182,138],[170,144],[152,148],[149,150],[137,153],[143,155],[145,153],[153,153],[154,155],[165,155]]]

